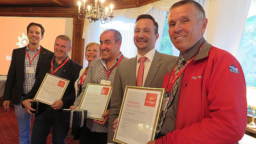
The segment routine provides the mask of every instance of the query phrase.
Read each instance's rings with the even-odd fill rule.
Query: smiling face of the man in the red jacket
[[[199,21],[196,8],[192,4],[172,9],[168,16],[169,35],[173,45],[182,53],[192,48],[205,32],[208,20]]]

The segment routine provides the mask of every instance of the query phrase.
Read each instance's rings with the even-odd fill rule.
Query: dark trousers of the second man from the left
[[[52,144],[65,144],[65,138],[68,135],[68,129],[63,127],[55,119],[53,108],[46,105],[45,112],[36,115],[33,124],[31,144],[46,144],[47,136],[52,127]],[[58,117],[61,119],[61,117]]]

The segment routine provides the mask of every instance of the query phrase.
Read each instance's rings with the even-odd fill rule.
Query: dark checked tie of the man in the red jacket
[[[178,64],[177,64],[177,67],[176,67],[176,71],[175,71],[175,75],[177,73],[179,73],[179,71],[183,68],[184,64],[185,64],[185,60],[180,57],[179,58],[179,61],[178,61]],[[178,85],[179,85],[179,82],[180,82],[180,79],[181,77],[178,77],[178,79],[176,80],[176,82],[174,83],[174,85],[172,86],[171,88],[171,91],[170,91],[170,99],[169,101],[167,102],[167,105],[165,107],[165,111],[163,111],[160,115],[160,119],[158,120],[158,126],[156,128],[156,133],[159,133],[161,131],[161,127],[162,127],[162,124],[164,122],[164,119],[165,119],[165,114],[167,112],[167,109],[168,107],[171,105],[171,101],[173,100],[174,96],[176,95],[176,92],[177,92],[177,88],[178,88]]]

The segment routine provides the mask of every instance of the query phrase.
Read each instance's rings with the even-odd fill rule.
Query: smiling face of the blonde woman
[[[100,57],[100,47],[98,45],[93,45],[86,48],[85,57],[89,64],[92,60],[98,59]]]

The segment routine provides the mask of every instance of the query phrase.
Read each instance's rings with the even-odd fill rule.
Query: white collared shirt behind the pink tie
[[[156,48],[153,48],[151,49],[148,53],[146,53],[143,57],[147,57],[148,59],[145,60],[144,62],[144,74],[143,74],[143,82],[142,82],[142,85],[144,85],[145,83],[145,80],[147,78],[147,75],[148,75],[148,70],[152,64],[152,61],[153,61],[153,58],[154,58],[154,55],[155,55],[155,51],[156,51]],[[139,69],[139,66],[140,66],[140,62],[139,62],[139,59],[141,58],[142,56],[137,53],[137,65],[136,65],[136,78],[137,78],[137,73],[138,73],[138,69]]]

